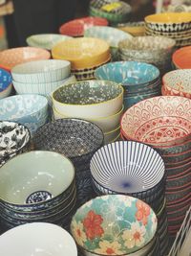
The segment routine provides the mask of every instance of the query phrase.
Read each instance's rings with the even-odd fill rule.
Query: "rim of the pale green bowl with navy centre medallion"
[[[74,164],[73,164],[73,162],[71,161],[71,159],[69,159],[67,156],[65,156],[64,154],[62,154],[62,153],[59,153],[59,152],[55,152],[55,151],[28,151],[28,152],[23,152],[23,153],[21,153],[20,155],[18,154],[18,155],[16,155],[16,157],[13,157],[13,158],[11,158],[11,159],[9,159],[7,162],[6,162],[6,164],[8,163],[8,162],[10,162],[10,161],[12,161],[12,160],[15,160],[15,158],[16,159],[18,159],[18,157],[22,157],[23,155],[25,155],[25,154],[31,154],[31,153],[35,153],[35,152],[38,152],[38,153],[41,153],[41,154],[44,154],[44,153],[46,153],[46,152],[48,152],[49,154],[51,154],[51,153],[54,153],[54,154],[57,154],[57,155],[60,155],[63,159],[67,159],[69,162],[70,162],[70,164],[71,164],[71,167],[72,167],[72,169],[73,169],[73,178],[72,178],[72,180],[71,180],[71,183],[68,185],[68,187],[64,190],[64,191],[62,191],[59,195],[57,195],[56,197],[53,197],[53,198],[50,198],[50,199],[47,199],[47,200],[43,200],[43,201],[40,201],[40,202],[32,202],[32,203],[25,203],[25,204],[20,204],[20,203],[12,203],[11,201],[8,201],[8,200],[5,200],[5,199],[3,199],[1,196],[0,196],[0,201],[3,201],[3,202],[6,202],[6,203],[9,203],[9,204],[11,204],[11,205],[13,205],[13,206],[18,206],[18,207],[30,207],[30,206],[32,206],[32,205],[40,205],[40,204],[43,204],[43,203],[47,203],[47,202],[50,202],[50,201],[52,201],[53,199],[55,199],[55,198],[58,198],[62,193],[64,193],[69,187],[70,187],[70,185],[73,183],[73,181],[74,181],[74,175],[75,175],[75,170],[74,170]],[[5,164],[5,165],[6,165]],[[4,165],[4,166],[5,166]],[[2,167],[3,168],[3,167]],[[5,167],[4,167],[5,168]]]

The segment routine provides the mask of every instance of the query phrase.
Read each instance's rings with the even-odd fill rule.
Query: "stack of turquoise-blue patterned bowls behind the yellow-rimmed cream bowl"
[[[124,109],[160,95],[159,69],[137,61],[118,61],[96,69],[97,80],[116,81],[124,88]]]

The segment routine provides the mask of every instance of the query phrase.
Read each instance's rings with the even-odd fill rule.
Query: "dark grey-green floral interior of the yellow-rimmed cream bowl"
[[[122,91],[112,81],[80,81],[59,87],[53,92],[53,99],[66,105],[93,105],[113,100]]]

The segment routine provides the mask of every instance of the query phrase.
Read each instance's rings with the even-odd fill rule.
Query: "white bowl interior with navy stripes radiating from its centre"
[[[134,197],[138,193],[147,197],[157,193],[165,171],[157,151],[132,141],[119,141],[100,148],[90,168],[93,178],[104,190]]]

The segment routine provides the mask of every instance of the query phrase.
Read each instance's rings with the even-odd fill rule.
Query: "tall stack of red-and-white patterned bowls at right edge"
[[[159,151],[167,173],[169,233],[176,236],[191,202],[191,100],[161,96],[130,107],[121,119],[123,139]]]

